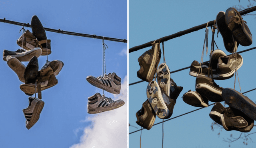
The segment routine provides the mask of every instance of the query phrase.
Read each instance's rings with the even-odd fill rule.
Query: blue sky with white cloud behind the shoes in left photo
[[[37,15],[46,28],[127,39],[127,1],[123,0],[32,0],[0,1],[0,18],[29,23]],[[16,51],[22,26],[0,22],[1,50]],[[30,30],[31,28],[26,28]],[[0,64],[0,143],[2,148],[110,148],[127,147],[127,43],[105,40],[106,73],[122,79],[119,95],[104,91],[106,97],[122,99],[125,105],[101,114],[87,113],[88,97],[102,90],[86,81],[88,75],[102,75],[102,40],[47,32],[52,53],[48,60],[61,60],[64,67],[56,76],[58,84],[42,91],[44,109],[38,122],[28,130],[22,109],[28,97],[20,90],[16,73]],[[38,58],[39,68],[46,56]],[[27,65],[28,62],[23,62]],[[118,142],[116,142],[118,141]]]

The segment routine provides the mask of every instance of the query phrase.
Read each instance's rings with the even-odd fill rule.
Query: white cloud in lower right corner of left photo
[[[84,128],[80,143],[70,148],[127,148],[127,76],[116,97],[125,104],[112,111],[87,116],[84,122],[92,122],[92,125]]]

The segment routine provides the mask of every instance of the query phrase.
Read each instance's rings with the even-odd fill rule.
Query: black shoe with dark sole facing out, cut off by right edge
[[[256,120],[256,104],[248,97],[230,88],[225,88],[222,91],[223,100],[232,108],[246,114],[253,120]]]

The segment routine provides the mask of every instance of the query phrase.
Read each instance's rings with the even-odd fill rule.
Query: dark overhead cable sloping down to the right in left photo
[[[5,18],[0,19],[0,22],[31,28],[31,25],[29,23],[26,24],[26,23],[14,22],[14,21],[6,20]],[[90,37],[90,38],[94,38],[94,39],[104,39],[104,40],[109,40],[109,41],[117,41],[117,42],[127,43],[126,39],[117,39],[117,38],[112,38],[112,37],[96,36],[96,35],[90,35],[90,34],[81,34],[81,33],[68,32],[68,31],[64,31],[64,30],[60,30],[60,29],[56,30],[56,29],[51,29],[51,28],[44,28],[44,30],[49,31],[49,32],[56,32],[56,33],[59,33],[59,34],[67,34],[67,35],[81,36],[81,37]]]

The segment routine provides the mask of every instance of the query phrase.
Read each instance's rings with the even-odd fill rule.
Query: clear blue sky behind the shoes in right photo
[[[220,11],[226,12],[229,7],[241,4],[246,7],[247,0],[129,0],[129,48],[159,39],[164,36],[169,36],[176,32],[198,26],[208,21],[216,19],[216,15]],[[255,14],[252,13],[252,14]],[[256,34],[254,24],[255,16],[243,16],[247,22],[250,31],[252,32],[253,40]],[[209,29],[209,45],[212,38],[212,32]],[[171,39],[164,42],[166,64],[169,66],[170,71],[178,70],[190,66],[192,61],[200,61],[203,43],[204,43],[205,29],[192,32],[190,34]],[[229,54],[224,48],[223,39],[220,34],[215,33],[215,41],[219,49]],[[248,47],[238,46],[238,51],[255,47],[256,42],[253,41],[252,45]],[[162,49],[162,44],[161,44]],[[138,57],[151,47],[146,47],[129,53],[129,83],[140,81],[136,72],[140,69]],[[215,49],[217,49],[215,47]],[[208,55],[204,53],[204,61],[209,60],[210,47]],[[238,70],[238,76],[242,92],[256,88],[254,82],[255,68],[253,67],[256,62],[256,50],[241,53],[244,63]],[[163,63],[163,54],[160,63]],[[183,87],[183,91],[177,99],[174,107],[174,112],[171,116],[175,117],[186,112],[198,109],[192,107],[182,100],[182,95],[189,91],[195,91],[196,77],[188,75],[190,69],[172,73],[171,78],[178,86]],[[215,82],[220,87],[234,88],[234,79],[232,77],[228,80],[216,80]],[[142,103],[146,101],[146,86],[147,82],[142,82],[136,85],[129,86],[129,123],[140,129],[136,124],[136,112],[141,109]],[[238,79],[236,77],[236,87],[239,90]],[[245,94],[252,101],[255,99],[255,91]],[[212,104],[212,102],[209,102]],[[248,146],[243,144],[243,140],[228,143],[224,139],[230,138],[230,134],[237,138],[240,135],[238,131],[226,131],[220,128],[211,130],[213,120],[209,117],[212,106],[201,109],[199,111],[186,114],[184,116],[175,118],[164,122],[164,148],[216,148],[228,147],[229,144],[234,148],[252,148],[255,143],[249,142]],[[162,119],[156,117],[155,123],[161,122]],[[138,130],[134,127],[129,127],[129,133]],[[253,128],[251,132],[255,132]],[[220,132],[220,136],[218,133]],[[256,134],[250,136],[252,140],[256,138]],[[250,141],[250,140],[249,140]],[[254,141],[255,142],[255,141]],[[140,131],[129,134],[129,147],[140,146]],[[142,148],[160,148],[162,147],[162,124],[153,126],[150,130],[142,130],[141,138]]]

